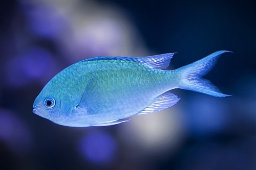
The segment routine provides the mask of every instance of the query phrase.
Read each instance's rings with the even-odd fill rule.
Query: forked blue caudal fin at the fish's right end
[[[179,88],[197,91],[219,98],[230,96],[227,94],[223,94],[209,80],[202,78],[202,76],[206,75],[212,69],[212,67],[214,67],[220,55],[226,52],[229,51],[217,51],[201,60],[176,69],[175,71],[177,71],[178,74],[181,75]]]

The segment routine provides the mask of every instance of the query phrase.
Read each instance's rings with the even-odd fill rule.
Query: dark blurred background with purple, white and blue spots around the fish
[[[2,0],[0,169],[256,169],[254,1]],[[67,66],[94,56],[174,53],[169,69],[218,50],[205,78],[228,98],[179,103],[129,123],[71,128],[32,112]]]

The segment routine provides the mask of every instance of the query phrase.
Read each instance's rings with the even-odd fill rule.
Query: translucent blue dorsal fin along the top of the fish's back
[[[150,68],[166,69],[169,66],[170,60],[175,53],[166,53],[149,57],[95,57],[84,61],[96,61],[96,60],[124,60],[134,61],[147,65]]]

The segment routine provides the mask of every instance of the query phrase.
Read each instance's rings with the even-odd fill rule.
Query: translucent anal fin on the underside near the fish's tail
[[[177,102],[179,102],[179,98],[177,95],[170,93],[170,92],[165,92],[161,95],[159,95],[153,103],[148,105],[145,109],[143,109],[141,112],[138,114],[147,114],[147,113],[153,113],[157,112],[163,109],[166,109],[168,107],[171,107],[175,105]]]

